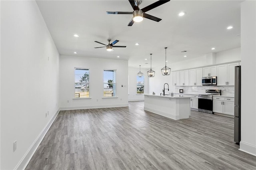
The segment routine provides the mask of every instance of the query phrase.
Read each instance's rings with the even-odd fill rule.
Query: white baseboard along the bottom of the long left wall
[[[28,149],[26,154],[23,156],[23,158],[20,160],[20,162],[17,164],[17,166],[14,168],[14,170],[24,170],[26,168],[26,166],[28,165],[28,162],[30,161],[30,159],[32,158],[34,153],[36,152],[36,149],[38,148],[39,144],[42,142],[42,140],[43,140],[44,136],[46,135],[46,133],[48,132],[49,128],[52,126],[52,123],[56,119],[59,112],[60,112],[60,110],[58,110],[53,115],[52,119],[50,119],[50,121],[46,124],[44,129],[40,132],[40,134],[38,135],[36,140],[32,143],[32,145],[30,146],[30,148]]]

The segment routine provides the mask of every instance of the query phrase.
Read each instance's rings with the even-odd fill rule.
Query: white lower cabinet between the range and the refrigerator
[[[212,111],[234,116],[234,98],[213,97]]]

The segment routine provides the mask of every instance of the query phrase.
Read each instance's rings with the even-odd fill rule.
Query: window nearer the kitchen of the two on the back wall
[[[104,70],[104,97],[116,97],[116,71]]]

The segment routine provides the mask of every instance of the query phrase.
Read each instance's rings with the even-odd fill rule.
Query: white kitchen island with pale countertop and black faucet
[[[144,94],[144,110],[174,120],[188,119],[190,115],[190,96]]]

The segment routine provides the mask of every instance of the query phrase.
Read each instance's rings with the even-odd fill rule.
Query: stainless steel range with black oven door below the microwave
[[[205,90],[205,93],[198,95],[198,111],[204,113],[212,112],[212,95],[220,95],[220,90]]]

